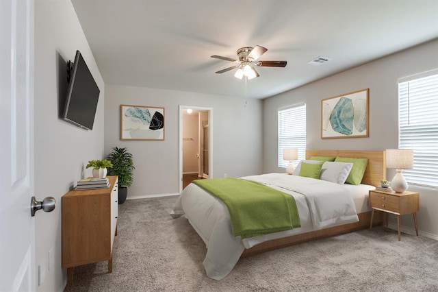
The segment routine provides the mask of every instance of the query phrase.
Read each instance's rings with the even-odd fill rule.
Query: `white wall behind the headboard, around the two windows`
[[[283,172],[277,161],[277,111],[283,106],[307,104],[307,149],[383,150],[398,147],[398,85],[400,77],[438,68],[438,40],[401,51],[337,75],[307,84],[263,103],[263,172]],[[336,62],[333,60],[331,62]],[[330,66],[330,62],[322,66]],[[315,67],[318,70],[318,67]],[[321,99],[370,88],[370,136],[368,138],[324,139],[321,135]],[[438,102],[438,100],[437,100]],[[438,167],[438,165],[437,165]],[[394,176],[388,171],[388,178]],[[418,227],[438,239],[438,191],[411,186],[420,192]],[[402,224],[413,228],[412,216]]]

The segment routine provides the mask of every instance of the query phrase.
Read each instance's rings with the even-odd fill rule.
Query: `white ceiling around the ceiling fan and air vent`
[[[214,95],[269,97],[438,38],[438,0],[71,1],[105,83]],[[257,67],[246,90],[215,73],[233,63],[211,55],[255,45],[287,66]]]

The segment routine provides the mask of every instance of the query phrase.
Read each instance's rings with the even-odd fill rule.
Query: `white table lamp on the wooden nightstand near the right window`
[[[397,171],[391,180],[391,188],[396,193],[403,193],[408,189],[408,183],[402,175],[402,169],[413,168],[413,150],[386,149],[386,167]]]

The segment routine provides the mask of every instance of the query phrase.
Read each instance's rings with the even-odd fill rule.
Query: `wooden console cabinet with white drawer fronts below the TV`
[[[110,188],[69,191],[62,196],[62,268],[73,280],[74,268],[108,261],[117,232],[118,177],[108,176]]]

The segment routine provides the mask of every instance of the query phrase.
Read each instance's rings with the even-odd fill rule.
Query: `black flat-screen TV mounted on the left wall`
[[[78,127],[92,130],[101,90],[80,51],[76,51],[73,64],[68,62],[67,76],[69,81],[63,119]]]

